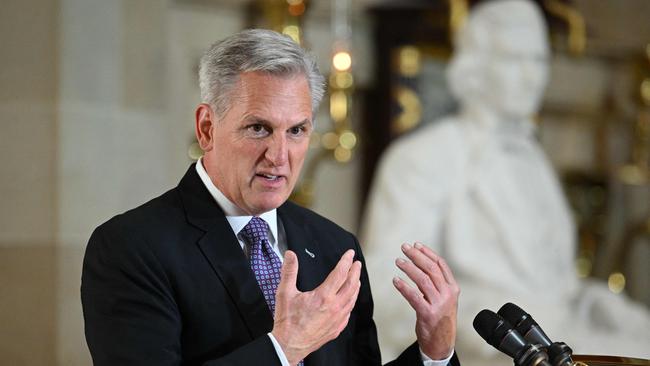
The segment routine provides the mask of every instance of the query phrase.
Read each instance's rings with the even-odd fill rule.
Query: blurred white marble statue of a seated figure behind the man
[[[456,41],[447,77],[459,112],[389,147],[362,224],[382,353],[390,359],[413,341],[413,313],[387,284],[399,275],[399,246],[420,241],[459,281],[463,364],[505,358],[472,328],[481,309],[505,302],[575,353],[650,358],[647,309],[574,271],[574,223],[534,136],[550,56],[540,9],[524,0],[480,3]]]

